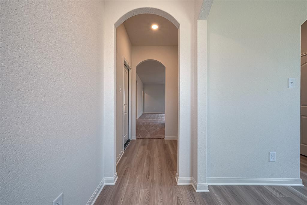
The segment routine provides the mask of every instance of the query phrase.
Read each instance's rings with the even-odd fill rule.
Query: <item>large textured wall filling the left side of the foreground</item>
[[[85,204],[103,179],[103,2],[1,1],[1,204]]]

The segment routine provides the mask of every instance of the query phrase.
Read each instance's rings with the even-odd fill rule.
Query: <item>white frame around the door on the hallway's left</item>
[[[126,58],[124,57],[124,67],[122,69],[123,76],[125,72],[125,66],[128,68],[128,140],[131,140],[131,108],[132,108],[132,69],[129,63],[127,62]],[[124,77],[122,78],[122,85],[124,85]],[[123,86],[124,87],[124,86]],[[124,116],[124,109],[122,109],[122,116]],[[124,118],[122,118],[122,133],[124,133]],[[124,138],[122,136],[122,150],[124,150]],[[124,151],[123,151],[124,152]]]

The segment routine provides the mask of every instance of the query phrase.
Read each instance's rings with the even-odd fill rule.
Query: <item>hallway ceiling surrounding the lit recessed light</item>
[[[132,45],[178,45],[178,29],[172,22],[155,14],[138,14],[124,23]],[[151,25],[157,24],[156,30]]]

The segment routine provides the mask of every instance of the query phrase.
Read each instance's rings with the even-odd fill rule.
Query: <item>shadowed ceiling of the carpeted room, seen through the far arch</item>
[[[136,68],[143,84],[165,84],[165,66],[158,61],[144,61]]]

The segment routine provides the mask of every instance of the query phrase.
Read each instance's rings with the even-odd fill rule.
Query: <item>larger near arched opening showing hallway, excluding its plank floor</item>
[[[133,15],[117,26],[116,164],[130,140],[177,140],[178,41],[178,27],[156,14]]]

